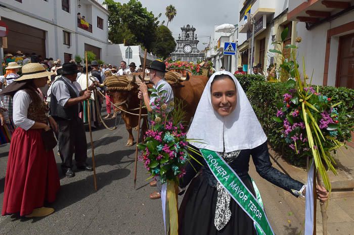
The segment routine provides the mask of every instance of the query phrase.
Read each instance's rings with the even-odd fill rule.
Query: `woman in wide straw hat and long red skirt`
[[[27,64],[22,76],[0,93],[13,95],[17,126],[10,144],[2,215],[38,217],[54,212],[43,205],[55,201],[60,181],[53,150],[46,150],[42,135],[51,128],[57,131],[58,126],[46,115],[37,92],[50,75],[40,64]]]

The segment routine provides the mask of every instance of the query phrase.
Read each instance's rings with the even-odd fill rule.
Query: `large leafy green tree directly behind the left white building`
[[[152,50],[156,37],[158,18],[148,12],[143,5],[130,0],[127,4],[106,0],[110,16],[108,18],[108,38],[113,43],[126,45],[143,44]]]

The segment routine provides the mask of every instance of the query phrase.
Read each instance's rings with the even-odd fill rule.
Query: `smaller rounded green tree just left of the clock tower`
[[[164,25],[160,25],[156,32],[156,42],[154,43],[154,54],[158,57],[166,58],[175,50],[176,42],[171,31]]]

